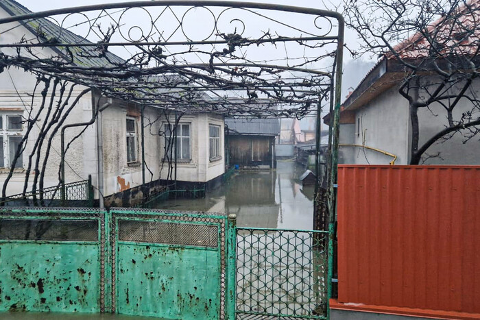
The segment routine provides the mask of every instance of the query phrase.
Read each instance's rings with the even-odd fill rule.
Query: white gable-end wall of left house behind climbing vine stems
[[[0,9],[0,18],[10,16],[7,12]],[[12,43],[18,42],[20,38],[27,35],[32,36],[25,27],[18,25],[18,23],[8,23],[7,25],[2,25],[3,29],[8,29],[8,32],[3,32],[0,37],[0,43]],[[3,53],[8,55],[16,55],[15,49],[2,48]],[[33,49],[37,56],[41,58],[49,58],[54,55],[53,51],[49,48],[45,49]],[[22,49],[23,56],[30,56],[24,49]],[[36,93],[32,98],[34,93],[34,88],[36,86],[36,76],[32,73],[25,72],[16,67],[5,68],[3,72],[0,73],[0,113],[1,114],[21,114],[24,119],[28,119],[28,113],[32,110],[32,115],[36,114],[41,106],[41,96],[40,91],[43,90],[43,84],[40,84],[36,88]],[[34,125],[32,131],[29,134],[29,139],[27,140],[27,145],[25,151],[23,152],[23,168],[16,168],[14,175],[7,186],[7,195],[14,195],[16,193],[21,193],[23,191],[23,185],[25,183],[25,169],[28,164],[29,153],[32,152],[34,148],[34,143],[40,132],[40,127],[43,124],[43,121],[47,119],[47,110],[49,106],[49,101],[52,95],[53,82],[50,85],[49,91],[46,96],[46,103],[43,112],[41,112],[38,119],[38,125]],[[58,88],[57,88],[58,89]],[[80,94],[85,87],[76,86],[71,95],[72,102],[77,95]],[[65,91],[64,95],[67,95],[69,86]],[[60,90],[56,90],[56,98],[53,101],[52,111],[50,113],[49,119],[51,119],[53,111],[57,108],[56,103],[58,101],[58,96]],[[89,121],[92,117],[92,95],[88,93],[84,95],[77,106],[71,110],[69,116],[64,121],[64,125],[71,123],[79,123]],[[5,123],[3,124],[5,126]],[[14,132],[14,134],[19,136],[24,136],[26,132],[27,124],[23,124],[23,130],[21,132]],[[49,132],[53,131],[53,128],[56,127],[54,124]],[[69,141],[80,134],[83,127],[71,127],[65,132],[65,141]],[[45,169],[45,180],[44,187],[56,186],[59,183],[58,178],[58,169],[60,167],[60,132],[61,127],[58,132],[53,137],[51,143],[51,149],[49,151],[49,158],[47,162],[47,167]],[[9,133],[10,134],[10,133]],[[38,158],[39,164],[43,163],[45,158],[45,152],[48,145],[49,135],[45,136],[43,141],[43,146],[41,148],[40,156]],[[88,143],[84,143],[88,141]],[[8,152],[8,145],[3,142],[4,152]],[[97,183],[96,168],[97,168],[97,154],[96,154],[96,136],[95,136],[95,127],[93,125],[88,126],[84,134],[75,140],[74,143],[69,147],[65,156],[65,182],[75,182],[79,180],[86,180],[88,175],[91,174],[93,177],[93,183]],[[32,167],[37,160],[36,153],[32,157]],[[5,167],[8,164],[5,164]],[[10,169],[0,169],[0,186],[3,187],[3,182],[8,175]],[[29,175],[29,184],[28,189],[30,190],[32,186],[32,181],[34,179],[34,174],[30,173]],[[95,190],[96,192],[96,190]]]

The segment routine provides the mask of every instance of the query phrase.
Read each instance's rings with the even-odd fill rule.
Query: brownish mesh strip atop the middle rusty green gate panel
[[[119,221],[119,240],[218,247],[218,227],[190,223]]]

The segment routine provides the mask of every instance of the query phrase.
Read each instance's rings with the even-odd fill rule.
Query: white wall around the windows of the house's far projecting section
[[[174,123],[175,119],[172,116],[170,123]],[[167,121],[161,121],[165,125]],[[215,177],[219,177],[225,172],[225,151],[224,151],[224,119],[222,116],[215,114],[189,114],[184,115],[180,119],[179,124],[190,124],[190,152],[191,160],[177,161],[177,180],[184,182],[208,182]],[[208,125],[218,125],[220,130],[220,154],[221,158],[211,160],[209,149],[209,129]],[[162,166],[162,159],[165,158],[165,138],[159,137],[160,154],[159,154],[159,171],[160,178],[167,180],[168,177],[168,162],[164,161]],[[173,164],[172,164],[173,165]],[[174,165],[173,165],[174,170]],[[172,173],[174,177],[174,173]]]

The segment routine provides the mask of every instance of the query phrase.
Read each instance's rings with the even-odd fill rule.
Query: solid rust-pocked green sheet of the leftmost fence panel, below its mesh
[[[100,312],[97,244],[0,244],[0,311]]]

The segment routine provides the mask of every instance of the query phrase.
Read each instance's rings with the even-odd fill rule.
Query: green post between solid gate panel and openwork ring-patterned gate
[[[226,319],[234,320],[237,309],[237,214],[228,214],[226,246]]]

